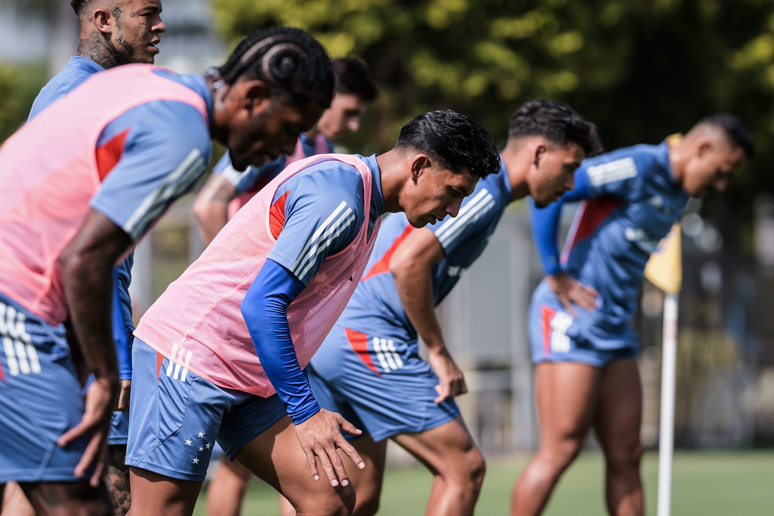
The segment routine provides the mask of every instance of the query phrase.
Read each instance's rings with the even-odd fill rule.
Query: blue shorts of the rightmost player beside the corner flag
[[[588,312],[575,307],[579,317]],[[577,362],[594,367],[604,367],[612,360],[632,358],[639,354],[637,334],[631,330],[605,335],[601,338],[586,337],[564,309],[546,282],[542,282],[529,304],[529,344],[533,364],[541,362]]]

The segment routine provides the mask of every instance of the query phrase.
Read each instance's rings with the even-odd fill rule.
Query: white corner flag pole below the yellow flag
[[[677,360],[677,293],[664,298],[661,355],[661,427],[659,430],[659,501],[657,516],[670,516],[674,451],[675,365]]]

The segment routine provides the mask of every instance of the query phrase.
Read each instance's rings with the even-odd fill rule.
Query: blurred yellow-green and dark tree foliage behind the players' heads
[[[470,114],[502,143],[509,114],[533,97],[572,104],[598,123],[608,149],[659,142],[705,114],[731,111],[748,122],[760,150],[731,198],[774,190],[765,166],[774,153],[774,2],[213,3],[234,42],[259,26],[297,26],[331,56],[368,63],[383,95],[351,149],[383,150],[406,119],[436,108]]]

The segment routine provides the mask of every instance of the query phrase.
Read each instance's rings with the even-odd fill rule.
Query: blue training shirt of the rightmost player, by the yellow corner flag
[[[575,190],[559,202],[533,206],[533,236],[546,274],[564,270],[599,292],[598,309],[576,309],[568,334],[621,340],[631,333],[629,321],[650,254],[680,219],[689,196],[675,183],[666,142],[586,159],[575,178]],[[585,202],[560,258],[557,231],[563,203],[581,199]],[[536,296],[556,302],[545,285],[538,291]]]

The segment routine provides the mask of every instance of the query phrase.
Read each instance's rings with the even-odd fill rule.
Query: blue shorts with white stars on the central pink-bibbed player
[[[277,395],[217,387],[135,337],[126,463],[201,482],[217,440],[229,459],[286,415]]]

